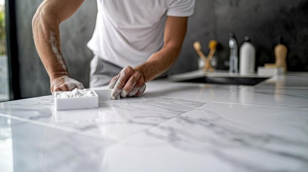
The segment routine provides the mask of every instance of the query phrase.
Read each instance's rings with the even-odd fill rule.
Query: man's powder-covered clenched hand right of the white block
[[[146,84],[141,73],[130,66],[126,66],[120,74],[111,79],[108,88],[113,88],[112,99],[116,99],[119,94],[123,98],[139,97],[146,90]]]

